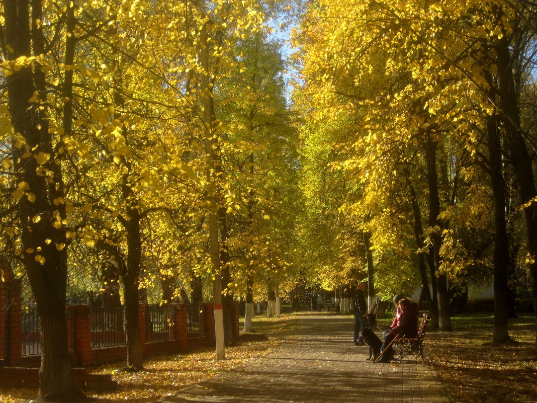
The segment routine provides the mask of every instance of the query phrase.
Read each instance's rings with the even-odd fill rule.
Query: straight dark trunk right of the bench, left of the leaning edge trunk
[[[502,150],[496,117],[487,120],[487,140],[490,155],[490,183],[494,200],[494,332],[495,343],[510,340],[507,329],[509,316],[509,238],[505,219],[505,181],[502,174]]]

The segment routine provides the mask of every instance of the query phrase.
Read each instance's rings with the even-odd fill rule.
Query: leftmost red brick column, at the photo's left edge
[[[4,358],[7,365],[17,366],[21,363],[23,348],[21,280],[20,278],[14,278],[12,273],[8,271],[4,273],[4,279],[4,298],[8,306],[8,311],[5,313],[4,318],[4,323],[7,323],[4,336],[8,342],[8,350]],[[2,327],[4,327],[4,323],[2,323]]]

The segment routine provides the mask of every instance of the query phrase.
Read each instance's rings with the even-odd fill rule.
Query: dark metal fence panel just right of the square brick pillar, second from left
[[[125,345],[124,307],[91,308],[91,348]]]

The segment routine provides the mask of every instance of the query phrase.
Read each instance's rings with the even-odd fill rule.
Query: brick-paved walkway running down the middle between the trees
[[[299,316],[299,334],[277,351],[161,402],[449,403],[423,364],[366,361],[367,347],[352,345],[353,323],[333,314]]]

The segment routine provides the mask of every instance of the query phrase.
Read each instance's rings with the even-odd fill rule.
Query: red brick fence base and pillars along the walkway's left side
[[[22,355],[23,332],[21,324],[21,284],[20,280],[13,278],[5,272],[5,282],[0,282],[0,386],[37,387],[38,367],[41,365],[41,355]],[[9,306],[9,310],[5,307]],[[146,341],[146,310],[140,304],[140,332],[142,339],[142,354],[146,358],[153,355],[177,354],[201,347],[215,346],[214,310],[212,303],[201,303],[200,315],[201,336],[188,337],[186,306],[178,304],[172,312],[171,326],[168,332],[156,332],[155,335],[169,336],[169,340]],[[108,383],[111,378],[92,377],[81,368],[88,365],[104,364],[124,361],[127,358],[126,346],[92,348],[93,345],[103,344],[103,338],[115,339],[113,332],[92,334],[91,307],[89,305],[67,306],[68,348],[71,365],[74,367],[73,375],[78,387],[111,387]],[[233,336],[238,337],[238,306],[231,305],[231,318],[233,321]],[[112,336],[111,336],[112,334]],[[27,334],[32,340],[37,334]]]

